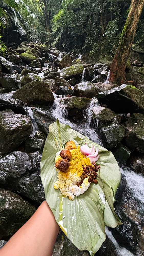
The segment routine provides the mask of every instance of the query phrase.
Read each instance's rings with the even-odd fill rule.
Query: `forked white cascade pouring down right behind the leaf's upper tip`
[[[93,106],[97,106],[97,100],[95,98],[92,99],[90,106],[88,106],[87,109],[83,111],[82,122],[74,123],[73,121],[68,120],[68,111],[66,109],[66,105],[64,104],[64,100],[62,100],[62,98],[59,98],[59,99],[55,98],[54,103],[52,105],[52,109],[53,109],[52,115],[56,119],[58,118],[60,123],[69,125],[75,131],[79,131],[84,136],[88,137],[91,141],[101,145],[98,134],[95,132],[94,129],[90,128],[90,123],[91,123],[90,113],[92,112],[91,109]]]

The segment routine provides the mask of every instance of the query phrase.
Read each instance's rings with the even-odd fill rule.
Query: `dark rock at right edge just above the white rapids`
[[[129,159],[130,166],[140,173],[144,174],[144,154],[134,151]]]

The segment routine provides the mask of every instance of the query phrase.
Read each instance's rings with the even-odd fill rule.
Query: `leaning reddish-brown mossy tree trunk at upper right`
[[[131,0],[130,9],[109,74],[109,83],[122,84],[125,81],[126,63],[131,51],[136,27],[142,12],[144,0]]]

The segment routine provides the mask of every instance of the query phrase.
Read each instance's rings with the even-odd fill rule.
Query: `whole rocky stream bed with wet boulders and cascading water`
[[[45,200],[40,159],[59,118],[111,150],[121,171],[115,211],[96,256],[144,255],[144,59],[130,54],[125,84],[108,83],[110,61],[22,42],[0,57],[0,248]],[[85,255],[59,232],[53,256]]]

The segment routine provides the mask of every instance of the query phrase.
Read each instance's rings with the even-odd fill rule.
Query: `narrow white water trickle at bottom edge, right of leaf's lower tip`
[[[117,256],[134,256],[134,254],[132,254],[126,248],[119,246],[118,242],[113,237],[112,232],[109,231],[107,227],[105,227],[105,232],[106,232],[108,238],[113,242],[113,244],[116,248]]]

